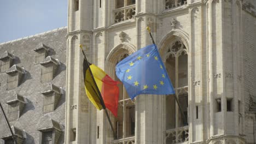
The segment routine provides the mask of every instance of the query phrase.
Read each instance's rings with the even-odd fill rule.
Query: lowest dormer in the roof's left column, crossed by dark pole
[[[11,130],[13,130],[13,133],[14,133],[14,135],[16,137],[16,140],[17,140],[17,144],[22,144],[24,142],[24,140],[26,139],[25,130],[21,130],[19,128],[14,127],[14,126],[11,126]],[[8,135],[1,136],[1,139],[4,140],[4,143],[5,143],[5,141],[6,142],[7,141],[8,142],[13,142],[13,137],[9,133],[8,133]]]

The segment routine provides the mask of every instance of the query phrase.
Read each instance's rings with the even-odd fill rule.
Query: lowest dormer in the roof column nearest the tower
[[[54,121],[50,118],[42,118],[39,122],[38,131],[40,131],[40,140],[39,143],[44,143],[44,134],[51,134],[51,143],[59,143],[60,136],[62,134],[62,126],[60,123]]]

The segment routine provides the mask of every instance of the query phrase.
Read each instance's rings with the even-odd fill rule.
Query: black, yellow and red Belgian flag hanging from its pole
[[[105,105],[107,109],[117,117],[119,82],[112,80],[102,69],[86,62],[85,59],[83,65],[84,85],[87,97],[98,110],[104,109]],[[100,93],[98,93],[98,91],[100,91]],[[101,103],[101,96],[103,98],[103,105]]]

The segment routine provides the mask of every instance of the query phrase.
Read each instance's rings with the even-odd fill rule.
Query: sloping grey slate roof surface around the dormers
[[[7,101],[20,100],[16,93],[26,97],[26,106],[17,121],[10,122],[10,125],[26,131],[24,143],[39,143],[38,126],[53,125],[58,123],[63,127],[65,125],[65,97],[61,97],[56,109],[50,113],[43,113],[44,92],[51,84],[62,89],[65,95],[66,89],[66,36],[67,28],[59,28],[53,31],[36,34],[30,37],[18,40],[8,41],[0,44],[1,57],[14,56],[13,64],[7,73],[11,71],[22,71],[24,76],[18,88],[7,90],[7,73],[0,73],[0,102],[3,105],[5,113],[8,112]],[[42,65],[36,63],[36,51],[38,49],[48,49],[46,61],[59,64],[56,76],[50,82],[41,83],[40,74]],[[36,51],[35,51],[36,50]],[[59,62],[56,61],[58,59]],[[1,60],[1,59],[0,59]],[[1,63],[1,61],[0,61]],[[50,88],[51,89],[51,88]],[[52,88],[54,89],[54,88]],[[54,89],[56,91],[56,89]],[[44,117],[49,117],[51,121],[42,121]],[[55,126],[57,127],[57,126]],[[62,131],[64,129],[61,129]],[[0,137],[9,134],[9,129],[4,122],[2,112],[0,112]],[[0,143],[3,140],[0,139]],[[64,143],[64,133],[60,137],[59,143]]]

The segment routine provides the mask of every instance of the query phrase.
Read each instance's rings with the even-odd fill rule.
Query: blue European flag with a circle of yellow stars
[[[131,99],[139,94],[174,94],[171,80],[156,45],[148,45],[123,59],[115,67]]]

